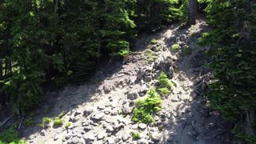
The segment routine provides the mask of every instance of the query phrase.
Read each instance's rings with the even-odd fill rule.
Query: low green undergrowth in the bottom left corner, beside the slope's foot
[[[18,131],[11,126],[8,130],[0,133],[0,144],[26,144],[26,142],[19,138]]]

